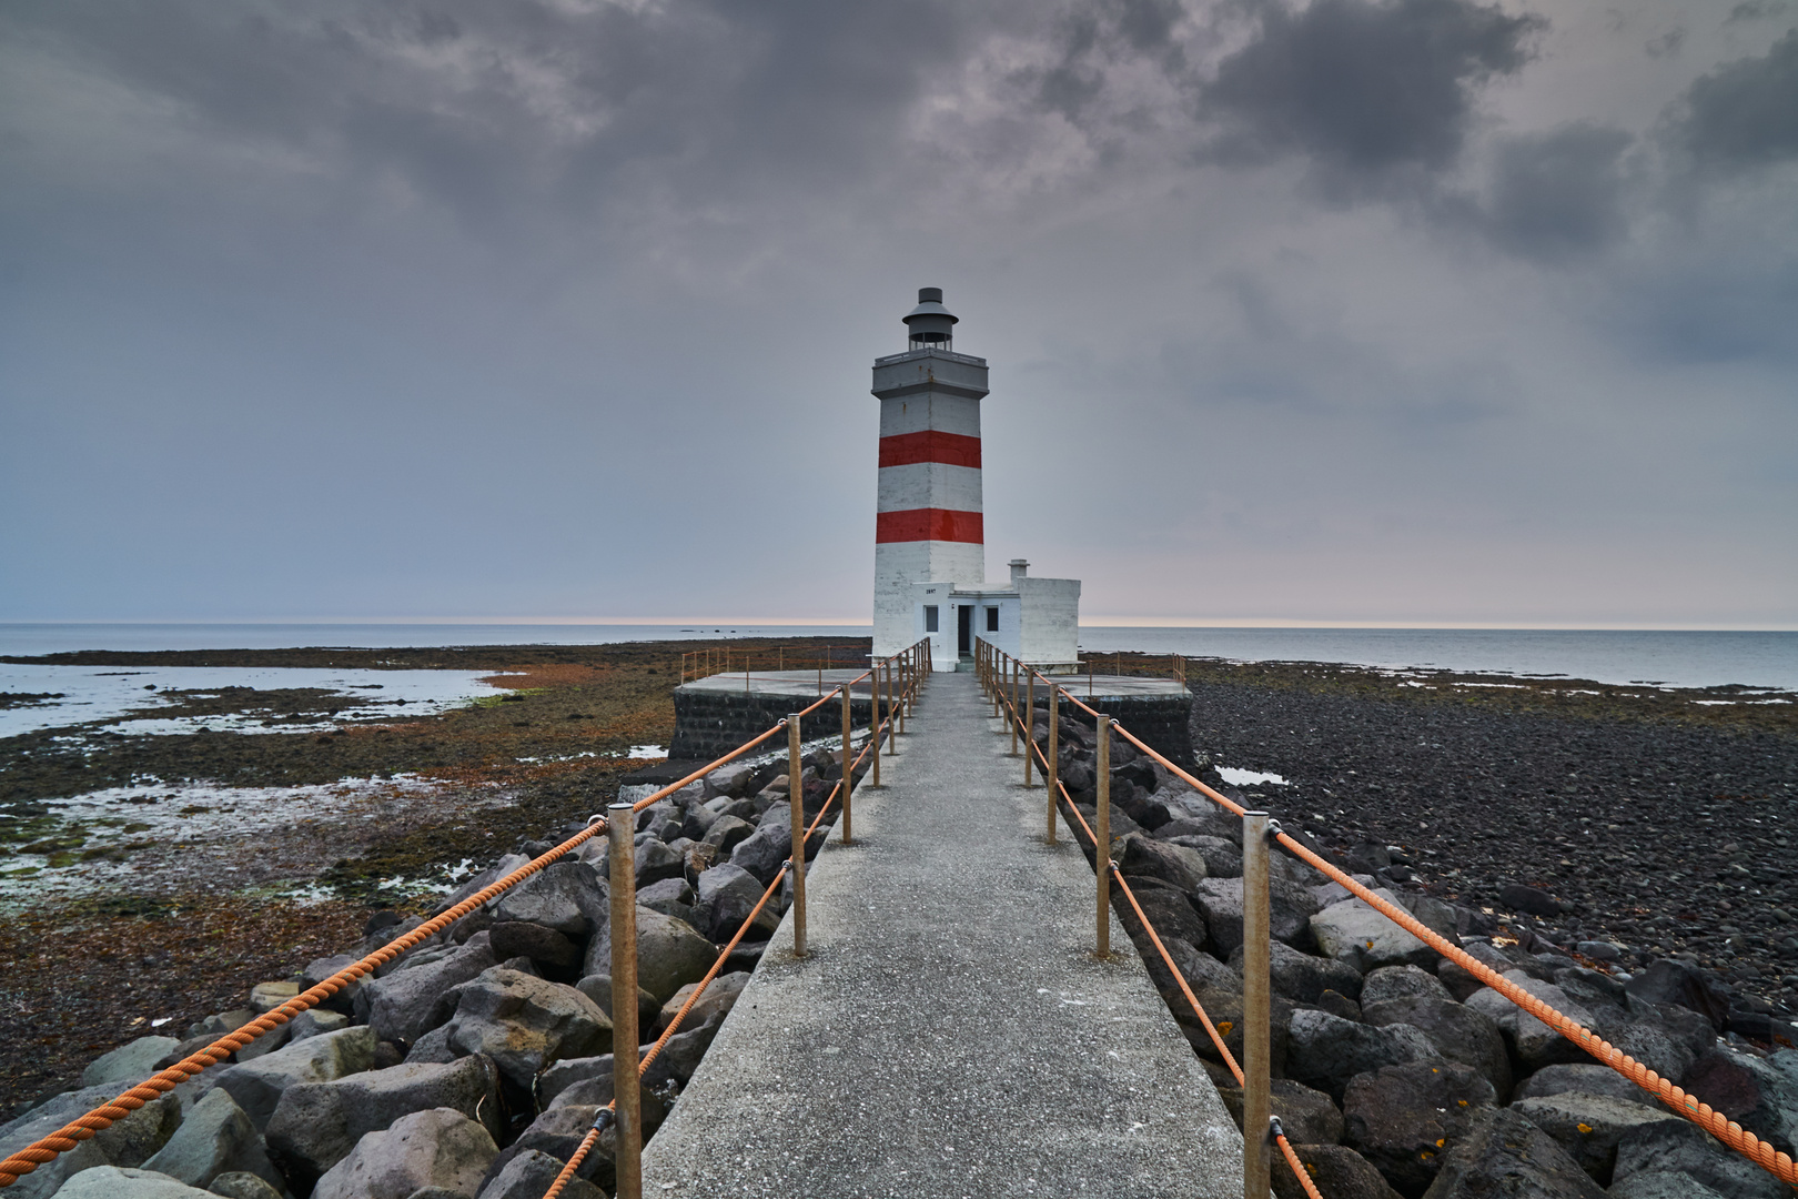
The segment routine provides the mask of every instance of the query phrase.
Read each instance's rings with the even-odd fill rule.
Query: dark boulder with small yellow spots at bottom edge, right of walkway
[[[1496,1106],[1492,1084],[1451,1062],[1356,1075],[1343,1091],[1343,1140],[1406,1195],[1422,1194],[1442,1154]]]

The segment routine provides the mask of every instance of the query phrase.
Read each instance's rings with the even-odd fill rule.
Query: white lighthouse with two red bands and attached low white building
[[[987,360],[955,352],[942,288],[919,288],[904,316],[906,349],[874,360],[881,401],[874,518],[874,654],[935,638],[937,669],[953,671],[984,638],[1041,665],[1077,658],[1079,579],[1034,579],[1014,559],[987,586],[980,401]]]

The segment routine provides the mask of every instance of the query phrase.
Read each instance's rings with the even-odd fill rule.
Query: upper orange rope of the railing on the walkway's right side
[[[994,653],[996,654],[1003,654],[1003,651],[998,651],[996,647],[994,647]],[[1010,660],[1010,658],[1007,656],[1007,660]],[[1095,712],[1088,705],[1081,703],[1079,697],[1075,697],[1068,688],[1054,683],[1048,676],[1043,676],[1041,672],[1032,671],[1028,665],[1025,665],[1023,669],[1030,671],[1030,674],[1034,674],[1036,678],[1039,678],[1050,688],[1048,690],[1048,696],[1050,696],[1050,705],[1048,705],[1050,706],[1050,719],[1055,719],[1055,715],[1057,715],[1057,710],[1055,710],[1057,705],[1055,705],[1055,699],[1054,699],[1057,692],[1063,694],[1063,696],[1066,696],[1068,701],[1073,706],[1081,708],[1088,715],[1093,715],[1093,717],[1099,715],[1099,712]],[[1007,697],[1007,706],[1012,706],[1009,703],[1009,697]],[[1012,712],[1012,719],[1014,721],[1018,719],[1016,712]],[[1160,753],[1154,748],[1151,748],[1149,744],[1145,744],[1142,739],[1138,739],[1135,733],[1131,733],[1127,728],[1124,728],[1117,721],[1111,723],[1111,730],[1117,732],[1120,737],[1124,737],[1127,742],[1131,742],[1138,751],[1142,751],[1144,755],[1147,755],[1147,757],[1154,759],[1156,762],[1160,762],[1169,773],[1176,775],[1179,780],[1183,780],[1187,786],[1190,786],[1194,791],[1197,791],[1205,798],[1212,800],[1214,804],[1221,805],[1223,809],[1226,809],[1226,811],[1230,811],[1230,813],[1233,813],[1237,816],[1241,816],[1246,811],[1241,804],[1230,800],[1224,795],[1219,795],[1215,789],[1208,787],[1206,784],[1199,782],[1190,773],[1187,773],[1185,769],[1181,769],[1179,766],[1176,766],[1174,762],[1170,762],[1163,753]],[[1030,741],[1030,733],[1028,732],[1025,733],[1025,739]],[[1039,751],[1039,755],[1041,755],[1041,751]],[[1063,795],[1066,796],[1066,787],[1063,787]],[[1070,800],[1070,807],[1072,807],[1072,800]],[[1075,813],[1079,809],[1075,809]],[[1082,822],[1082,825],[1084,825],[1084,822]],[[1088,830],[1088,836],[1091,836],[1090,830]],[[1388,920],[1392,920],[1393,924],[1397,924],[1399,928],[1402,928],[1406,933],[1410,933],[1417,940],[1420,940],[1426,946],[1429,946],[1435,953],[1438,953],[1440,956],[1447,958],[1449,962],[1455,962],[1456,965],[1460,965],[1462,969],[1465,969],[1469,974],[1473,974],[1474,978],[1478,978],[1482,983],[1485,983],[1487,987],[1491,987],[1492,990],[1496,990],[1503,998],[1510,999],[1514,1005],[1518,1005],[1519,1008],[1523,1008],[1525,1012],[1528,1012],[1535,1019],[1543,1021],[1544,1025],[1548,1025],[1550,1028],[1553,1028],[1555,1032],[1559,1032],[1562,1037],[1566,1037],[1568,1041],[1571,1041],[1573,1044],[1577,1044],[1584,1052],[1591,1053],[1597,1061],[1604,1062],[1606,1066],[1609,1066],[1616,1073],[1624,1075],[1625,1079],[1629,1079],[1636,1086],[1643,1088],[1645,1091],[1652,1091],[1656,1098],[1660,1098],[1667,1107],[1670,1107],[1678,1115],[1681,1115],[1687,1120],[1690,1120],[1692,1124],[1699,1125],[1701,1129],[1705,1129],[1706,1132],[1710,1132],[1712,1136],[1715,1136],[1724,1145],[1730,1145],[1739,1154],[1742,1154],[1744,1158],[1748,1158],[1755,1165],[1762,1167],[1764,1170],[1767,1170],[1769,1174],[1773,1174],[1775,1177],[1778,1177],[1787,1186],[1798,1186],[1798,1165],[1793,1163],[1793,1158],[1789,1154],[1776,1150],[1771,1143],[1760,1140],[1758,1136],[1755,1136],[1753,1132],[1749,1132],[1748,1129],[1744,1129],[1740,1124],[1735,1124],[1733,1120],[1730,1120],[1721,1111],[1715,1111],[1710,1104],[1705,1104],[1696,1095],[1690,1095],[1688,1091],[1674,1086],[1670,1080],[1667,1080],[1661,1075],[1658,1075],[1656,1071],[1649,1070],[1647,1066],[1643,1066],[1642,1062],[1638,1062],[1636,1059],[1633,1059],[1629,1053],[1624,1053],[1620,1048],[1616,1048],[1609,1041],[1598,1037],[1595,1032],[1591,1032],[1589,1028],[1586,1028],[1579,1021],[1575,1021],[1575,1019],[1571,1019],[1568,1016],[1562,1016],[1553,1007],[1550,1007],[1543,999],[1532,996],[1528,990],[1525,990],[1523,987],[1516,985],[1514,981],[1510,981],[1509,978],[1505,978],[1503,974],[1500,974],[1498,971],[1494,971],[1485,962],[1480,962],[1478,958],[1474,958],[1473,955],[1469,955],[1460,946],[1451,944],[1446,937],[1442,937],[1435,929],[1426,928],[1410,911],[1404,911],[1397,904],[1392,904],[1392,902],[1381,899],[1379,895],[1375,895],[1370,888],[1356,883],[1348,874],[1345,874],[1343,870],[1340,870],[1338,866],[1334,866],[1327,859],[1320,857],[1318,854],[1314,854],[1311,848],[1307,848],[1305,845],[1302,845],[1300,841],[1296,841],[1289,834],[1277,832],[1275,839],[1287,852],[1291,852],[1293,856],[1296,856],[1298,859],[1302,859],[1304,863],[1307,863],[1309,866],[1313,866],[1314,870],[1318,870],[1323,877],[1331,879],[1332,883],[1340,883],[1356,899],[1363,901],[1365,904],[1368,904],[1370,908],[1374,908],[1375,911],[1379,911],[1383,917],[1386,917]],[[1178,971],[1176,971],[1176,976],[1178,976]]]

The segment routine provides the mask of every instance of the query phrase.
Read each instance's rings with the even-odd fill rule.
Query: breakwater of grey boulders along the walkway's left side
[[[640,1039],[674,1019],[791,856],[791,804],[816,816],[840,755],[732,766],[636,814]],[[631,795],[620,798],[629,800]],[[834,813],[836,809],[832,809]],[[579,825],[565,829],[570,836]],[[806,845],[822,847],[827,825]],[[552,843],[521,843],[439,911]],[[593,839],[437,937],[131,1113],[7,1195],[40,1199],[539,1199],[611,1102],[613,1023],[606,841]],[[786,910],[777,895],[642,1080],[651,1136],[692,1077]],[[243,1008],[142,1037],[86,1068],[83,1086],[0,1125],[16,1152],[156,1070],[273,1010],[417,928],[381,911],[352,953],[255,985]],[[610,1132],[563,1192],[611,1190]]]

